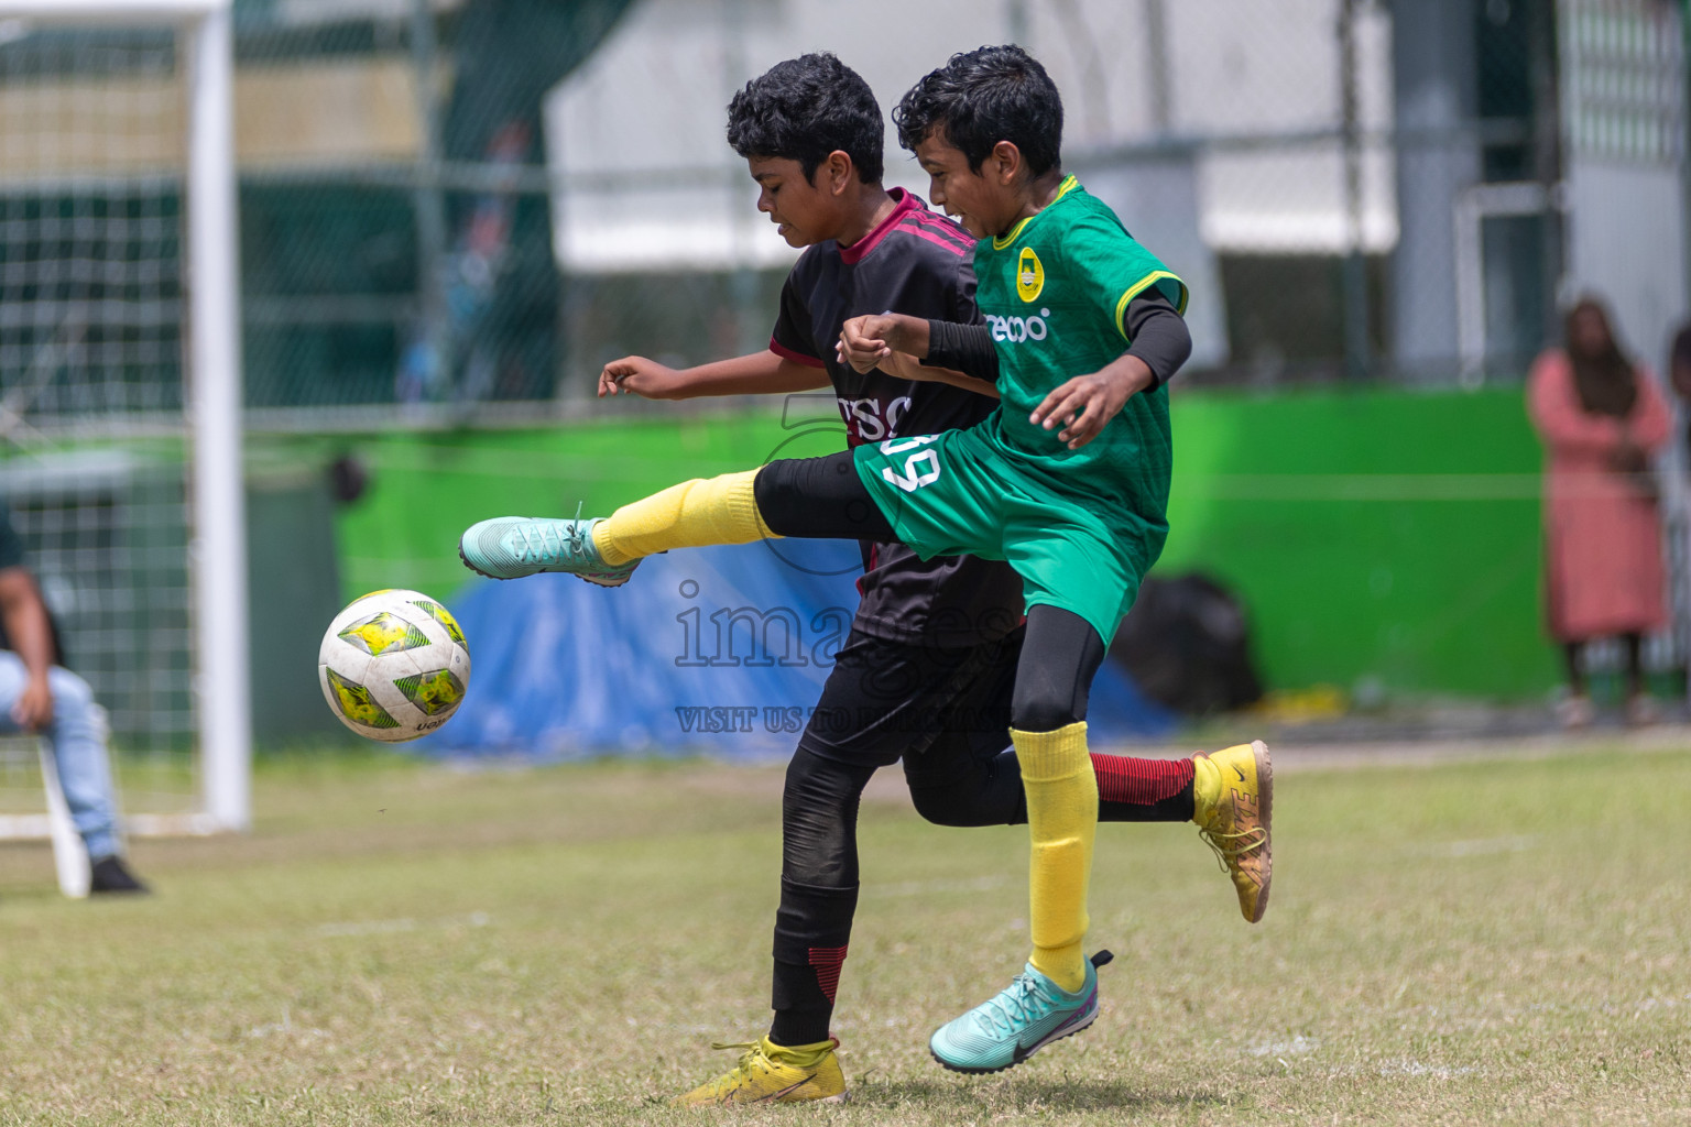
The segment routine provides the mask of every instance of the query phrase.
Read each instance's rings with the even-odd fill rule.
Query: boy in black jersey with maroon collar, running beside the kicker
[[[988,378],[859,373],[835,355],[844,323],[862,314],[982,324],[974,238],[922,199],[881,186],[883,135],[867,83],[832,54],[781,63],[747,83],[729,105],[729,144],[763,189],[758,208],[790,245],[807,248],[781,291],[769,348],[685,370],[626,357],[605,365],[599,394],[690,399],[832,387],[851,446],[984,419],[996,404]],[[911,799],[930,821],[1026,821],[1008,750],[1020,578],[1006,563],[972,556],[923,561],[898,542],[861,547],[851,637],[786,774],[774,1022],[766,1037],[736,1046],[746,1049],[736,1068],[683,1103],[844,1097],[829,1021],[857,902],[857,799],[878,767],[903,759]],[[1101,821],[1192,818],[1192,760],[1092,755],[1092,764]]]

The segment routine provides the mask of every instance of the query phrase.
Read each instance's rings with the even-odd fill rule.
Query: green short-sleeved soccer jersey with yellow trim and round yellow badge
[[[976,304],[998,346],[1003,406],[981,426],[1030,478],[1104,515],[1150,566],[1167,536],[1168,394],[1128,399],[1081,449],[1028,422],[1045,395],[1119,358],[1130,341],[1128,302],[1155,286],[1185,313],[1185,282],[1140,247],[1121,220],[1075,177],[1045,210],[974,252]]]

